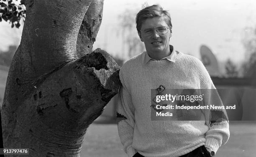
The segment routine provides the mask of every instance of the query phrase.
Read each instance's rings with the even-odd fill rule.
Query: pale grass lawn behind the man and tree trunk
[[[92,124],[85,134],[81,157],[127,157],[116,124]],[[255,157],[256,122],[230,122],[230,139],[216,157]]]

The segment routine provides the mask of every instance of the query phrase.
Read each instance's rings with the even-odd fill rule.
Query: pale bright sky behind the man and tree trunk
[[[118,15],[126,9],[138,12],[145,2],[159,4],[169,11],[173,25],[170,44],[176,50],[200,58],[200,46],[204,44],[218,61],[228,58],[237,63],[244,61],[241,41],[246,27],[256,27],[255,0],[105,0],[102,24],[93,49],[102,48],[127,60],[128,56],[122,52],[121,35],[117,33],[120,34]],[[10,28],[10,24],[1,22],[0,51],[6,51],[10,44],[19,44],[21,32],[22,29]]]

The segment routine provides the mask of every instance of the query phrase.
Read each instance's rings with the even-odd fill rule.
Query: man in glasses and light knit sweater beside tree
[[[136,25],[146,51],[127,61],[119,73],[122,85],[117,121],[124,151],[129,157],[214,156],[229,138],[225,117],[211,121],[151,120],[151,110],[156,107],[151,103],[151,89],[215,89],[207,70],[197,58],[169,45],[171,18],[159,5],[139,11]]]

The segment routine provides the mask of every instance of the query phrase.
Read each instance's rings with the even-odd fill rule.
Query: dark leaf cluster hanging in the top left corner
[[[0,22],[12,23],[11,27],[20,27],[20,20],[25,19],[26,8],[18,0],[0,0]]]

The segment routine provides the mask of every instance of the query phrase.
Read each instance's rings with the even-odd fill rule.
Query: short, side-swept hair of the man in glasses
[[[167,25],[170,28],[170,32],[172,33],[171,16],[168,13],[168,11],[163,10],[163,8],[160,5],[151,5],[138,12],[138,14],[136,15],[137,31],[140,32],[141,25],[147,18],[154,18],[154,17],[161,17],[161,16],[164,17]]]

